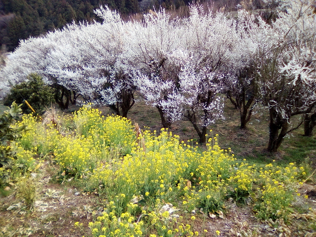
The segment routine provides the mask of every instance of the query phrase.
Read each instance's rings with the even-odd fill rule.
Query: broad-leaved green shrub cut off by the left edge
[[[16,152],[10,143],[20,137],[19,133],[25,130],[26,126],[13,128],[11,124],[14,120],[19,119],[21,113],[21,105],[18,106],[14,101],[10,110],[4,111],[3,115],[0,116],[0,167],[8,164],[12,158],[16,158]]]

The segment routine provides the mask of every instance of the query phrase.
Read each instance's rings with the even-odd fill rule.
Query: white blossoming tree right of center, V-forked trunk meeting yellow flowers
[[[208,126],[223,119],[223,77],[238,60],[237,22],[212,9],[193,7],[185,21],[188,57],[179,77],[185,97],[185,120],[192,123],[199,141],[206,142]]]

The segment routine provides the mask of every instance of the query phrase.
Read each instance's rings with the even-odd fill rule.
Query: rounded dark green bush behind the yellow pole
[[[41,76],[30,74],[27,81],[14,85],[10,94],[5,98],[4,105],[8,106],[13,101],[23,103],[22,109],[25,113],[32,112],[24,103],[24,99],[33,107],[35,112],[42,113],[45,106],[49,106],[54,101],[54,89],[45,85]]]

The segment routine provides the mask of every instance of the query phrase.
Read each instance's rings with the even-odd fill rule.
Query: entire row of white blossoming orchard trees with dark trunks
[[[1,86],[38,73],[71,91],[72,100],[79,94],[124,117],[138,93],[158,109],[164,127],[188,120],[201,143],[208,126],[224,119],[225,98],[239,110],[240,128],[260,105],[270,115],[268,150],[276,151],[302,123],[307,136],[316,124],[316,4],[276,5],[272,22],[242,9],[233,18],[202,6],[191,6],[187,18],[160,10],[123,21],[101,7],[95,13],[103,23],[70,24],[22,41],[1,71],[8,81]],[[294,125],[295,115],[305,120]]]

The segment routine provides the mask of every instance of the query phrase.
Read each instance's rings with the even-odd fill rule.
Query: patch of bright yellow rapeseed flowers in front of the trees
[[[225,218],[228,200],[252,205],[258,220],[287,223],[309,172],[294,163],[240,162],[220,148],[217,134],[205,150],[167,129],[137,134],[131,121],[103,117],[91,105],[60,119],[64,126],[57,128],[24,115],[16,125],[27,125],[15,144],[18,161],[32,171],[51,157],[61,180],[74,177],[85,192],[98,193],[104,208],[89,223],[94,237],[209,236],[207,219]]]

